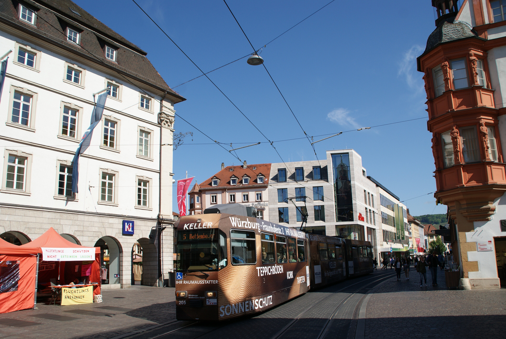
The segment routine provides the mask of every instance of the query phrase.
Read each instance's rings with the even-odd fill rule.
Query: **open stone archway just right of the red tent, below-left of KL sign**
[[[103,272],[102,284],[119,284],[121,245],[113,237],[105,236],[98,239],[95,247],[100,247],[100,268]]]

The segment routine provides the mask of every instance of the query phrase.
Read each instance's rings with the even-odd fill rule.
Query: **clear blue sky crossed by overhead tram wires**
[[[201,74],[132,1],[74,1],[145,50],[172,88]],[[329,1],[227,3],[258,49]],[[223,1],[138,3],[203,71],[252,52]],[[423,118],[427,116],[423,73],[416,71],[416,56],[435,29],[434,19],[429,0],[335,0],[261,53],[309,136],[422,118],[315,144],[319,159],[325,159],[326,150],[355,149],[367,174],[401,200],[436,190],[431,134]],[[304,137],[264,67],[250,66],[244,58],[208,76],[271,141]],[[267,140],[205,77],[175,90],[187,99],[175,106],[176,112],[213,140],[232,143],[233,148],[261,142],[238,150],[241,160],[281,162]],[[188,136],[174,152],[176,180],[188,171],[188,176],[195,176],[193,185],[218,172],[222,162],[239,164],[181,119],[176,118],[175,129],[193,132],[193,140]],[[315,159],[307,139],[274,145],[284,161]],[[446,213],[446,206],[435,205],[433,194],[405,204],[412,215]]]

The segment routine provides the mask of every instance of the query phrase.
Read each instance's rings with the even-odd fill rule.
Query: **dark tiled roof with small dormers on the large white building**
[[[186,100],[171,90],[141,50],[69,0],[23,0],[36,11],[35,26],[19,20],[18,1],[0,0],[0,22],[100,63],[123,75],[129,75],[162,91],[168,91],[176,102]],[[74,14],[73,9],[79,15]],[[80,44],[67,41],[66,27],[80,31]],[[104,44],[117,48],[116,62],[105,58]],[[116,72],[113,72],[116,73]],[[118,77],[120,78],[120,77]],[[157,93],[155,93],[157,94]]]

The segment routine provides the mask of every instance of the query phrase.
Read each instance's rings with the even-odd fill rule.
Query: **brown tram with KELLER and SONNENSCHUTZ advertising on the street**
[[[372,272],[367,241],[225,213],[184,216],[176,227],[178,320],[262,312],[310,288]]]

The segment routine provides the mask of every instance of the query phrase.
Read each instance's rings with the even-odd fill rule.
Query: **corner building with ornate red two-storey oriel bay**
[[[424,72],[438,202],[448,206],[461,288],[506,280],[506,0],[432,0]],[[504,86],[504,87],[503,87]]]

